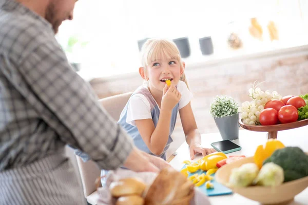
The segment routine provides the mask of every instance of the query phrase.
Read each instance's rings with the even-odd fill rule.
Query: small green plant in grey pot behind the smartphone
[[[216,96],[210,104],[209,112],[223,140],[239,137],[238,104],[232,97]]]

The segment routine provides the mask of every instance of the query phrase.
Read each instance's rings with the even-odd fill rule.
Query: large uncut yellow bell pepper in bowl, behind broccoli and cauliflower
[[[259,169],[262,168],[263,161],[270,157],[275,150],[282,149],[285,146],[277,139],[268,139],[266,144],[259,145],[254,155],[254,160]]]

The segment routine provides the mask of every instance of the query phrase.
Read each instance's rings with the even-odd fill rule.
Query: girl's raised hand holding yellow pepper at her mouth
[[[171,86],[168,89],[168,86],[166,84],[163,90],[161,108],[171,111],[172,109],[174,109],[177,103],[179,103],[181,96],[181,93],[177,90],[175,85],[172,85],[171,83]]]

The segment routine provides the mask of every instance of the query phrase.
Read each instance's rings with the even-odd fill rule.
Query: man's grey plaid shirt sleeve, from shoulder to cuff
[[[36,96],[29,103],[63,141],[89,154],[101,168],[115,169],[124,163],[132,140],[71,69],[55,39],[39,41],[16,68]]]

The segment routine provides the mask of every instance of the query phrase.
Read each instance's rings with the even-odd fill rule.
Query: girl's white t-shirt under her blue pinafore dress
[[[179,101],[179,110],[184,108],[192,99],[192,93],[188,90],[184,81],[179,81],[177,85],[178,91],[181,93]],[[158,107],[158,105],[157,105]],[[134,120],[151,119],[151,107],[147,98],[143,94],[135,94],[130,97],[127,108],[126,122],[132,126],[136,126]]]

